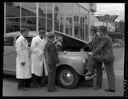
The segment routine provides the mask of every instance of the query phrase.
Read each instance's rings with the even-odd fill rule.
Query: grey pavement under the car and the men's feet
[[[116,92],[106,92],[104,89],[108,88],[108,81],[106,73],[103,74],[103,88],[100,90],[94,90],[91,87],[83,87],[79,85],[75,89],[65,89],[57,85],[58,92],[47,92],[47,87],[39,88],[28,88],[26,91],[17,90],[17,81],[15,77],[5,77],[3,79],[3,96],[41,96],[41,97],[59,97],[59,96],[123,96],[124,88],[124,48],[114,49],[115,62],[114,71],[116,76]],[[83,82],[84,83],[84,82]]]

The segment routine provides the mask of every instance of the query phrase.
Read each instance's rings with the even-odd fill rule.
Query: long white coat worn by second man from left
[[[39,36],[34,37],[31,43],[31,71],[36,76],[42,76],[43,73],[43,50],[43,40]]]

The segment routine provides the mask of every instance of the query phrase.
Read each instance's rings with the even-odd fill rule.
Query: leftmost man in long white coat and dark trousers
[[[25,87],[30,86],[31,70],[29,64],[28,41],[26,37],[28,29],[23,28],[21,35],[16,40],[15,48],[17,52],[16,57],[16,78],[18,79],[18,89],[25,90]]]

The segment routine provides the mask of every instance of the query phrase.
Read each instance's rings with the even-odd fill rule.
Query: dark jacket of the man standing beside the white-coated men
[[[52,41],[47,41],[44,52],[47,65],[51,66],[59,63],[57,48],[55,47],[55,44]]]

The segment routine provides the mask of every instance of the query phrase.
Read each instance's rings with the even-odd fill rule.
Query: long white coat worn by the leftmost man
[[[28,57],[28,41],[22,35],[20,35],[20,37],[16,40],[15,48],[17,52],[16,78],[18,79],[31,78],[31,69],[30,69],[29,57]],[[25,62],[25,65],[22,66],[21,62]]]

